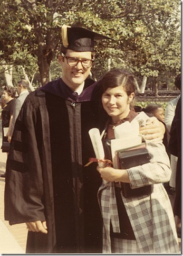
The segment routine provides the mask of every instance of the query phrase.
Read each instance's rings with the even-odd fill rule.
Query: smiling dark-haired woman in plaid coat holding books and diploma
[[[121,123],[137,120],[146,124],[144,112],[131,110],[134,76],[123,69],[107,72],[99,81],[102,106],[109,118],[103,124],[103,140],[114,139]],[[101,125],[100,125],[101,127]],[[97,167],[102,183],[98,199],[103,217],[103,253],[178,253],[178,237],[171,203],[162,182],[171,176],[169,157],[162,142],[145,140],[149,162],[127,169]],[[106,182],[107,181],[107,182]],[[120,182],[131,189],[151,186],[150,194],[124,196]]]

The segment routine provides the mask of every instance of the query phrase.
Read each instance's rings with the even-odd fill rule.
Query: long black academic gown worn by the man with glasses
[[[88,131],[97,126],[95,85],[75,95],[57,79],[27,96],[6,166],[5,220],[46,220],[47,234],[28,232],[26,253],[102,252],[97,201],[101,178]],[[90,85],[90,86],[89,86]]]

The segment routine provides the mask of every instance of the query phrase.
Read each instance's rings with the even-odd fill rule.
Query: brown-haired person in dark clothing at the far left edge
[[[9,143],[7,141],[6,133],[9,127],[9,120],[13,113],[14,103],[15,103],[16,90],[14,87],[5,86],[3,91],[3,100],[5,105],[2,109],[2,152],[9,152]],[[5,174],[2,174],[1,177],[5,178]]]

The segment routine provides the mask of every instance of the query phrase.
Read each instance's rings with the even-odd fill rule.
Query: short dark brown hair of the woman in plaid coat
[[[99,84],[104,93],[108,88],[123,86],[129,96],[134,93],[136,85],[134,84],[134,76],[126,69],[115,68],[104,74],[99,81]]]

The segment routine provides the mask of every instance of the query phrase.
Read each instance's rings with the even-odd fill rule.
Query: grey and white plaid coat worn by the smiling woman
[[[136,120],[139,125],[145,125],[147,118],[149,117],[141,112]],[[152,193],[133,198],[125,198],[121,193],[121,197],[141,253],[178,253],[174,215],[162,185],[171,176],[169,158],[161,142],[146,142],[150,162],[127,169],[127,172],[131,188],[151,185]],[[102,183],[98,191],[103,217],[103,253],[111,253],[110,222],[113,231],[120,232],[115,186],[119,186],[118,182]]]

